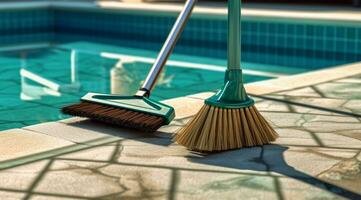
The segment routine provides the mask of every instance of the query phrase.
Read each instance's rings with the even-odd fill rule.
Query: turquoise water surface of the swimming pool
[[[89,91],[132,95],[156,55],[155,51],[90,42],[3,51],[0,130],[67,118],[59,109]],[[225,60],[173,55],[152,97],[164,100],[216,90],[222,85],[225,64]],[[243,67],[247,83],[304,71],[252,63]]]

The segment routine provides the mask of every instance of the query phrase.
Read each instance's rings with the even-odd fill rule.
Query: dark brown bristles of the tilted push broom
[[[62,108],[62,112],[145,132],[155,132],[165,125],[165,120],[162,117],[93,102],[80,102],[70,105]]]

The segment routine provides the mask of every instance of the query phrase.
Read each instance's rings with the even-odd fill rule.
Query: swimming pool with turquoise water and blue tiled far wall
[[[66,118],[59,108],[88,91],[133,94],[174,18],[74,7],[0,9],[0,130]],[[247,83],[361,59],[357,26],[253,18],[242,25]],[[225,58],[225,16],[196,14],[152,97],[218,89]]]

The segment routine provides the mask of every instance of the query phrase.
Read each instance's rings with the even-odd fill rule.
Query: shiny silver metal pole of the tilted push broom
[[[160,73],[162,72],[169,56],[172,54],[173,49],[185,28],[185,25],[191,16],[194,5],[197,0],[187,0],[182,12],[178,16],[177,21],[175,22],[171,32],[168,35],[167,40],[165,41],[162,50],[160,51],[155,63],[153,64],[151,70],[148,73],[147,78],[145,79],[144,84],[141,89],[137,92],[137,96],[149,96],[151,90],[154,88],[155,83],[158,80]]]

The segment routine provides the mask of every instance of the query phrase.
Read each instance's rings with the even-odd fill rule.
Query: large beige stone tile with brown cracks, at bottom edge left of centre
[[[141,166],[84,166],[72,162],[69,168],[48,172],[36,192],[66,194],[87,198],[158,198],[168,195],[170,171]],[[60,164],[63,165],[63,164]],[[91,188],[91,189],[89,189]]]

